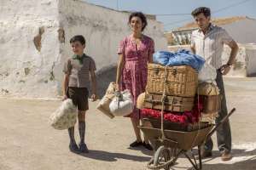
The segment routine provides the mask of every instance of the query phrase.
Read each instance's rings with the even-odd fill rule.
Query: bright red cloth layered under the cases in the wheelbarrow
[[[143,117],[152,117],[156,119],[160,119],[161,111],[153,110],[153,109],[142,109]],[[202,103],[201,99],[195,102],[195,106],[192,111],[185,112],[168,112],[164,111],[164,119],[170,122],[179,122],[184,125],[189,123],[199,122],[199,117],[201,116],[202,111]]]

